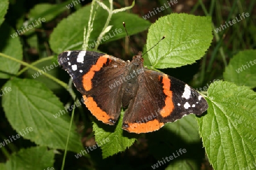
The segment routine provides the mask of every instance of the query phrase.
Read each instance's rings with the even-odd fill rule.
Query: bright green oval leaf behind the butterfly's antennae
[[[148,59],[156,69],[180,67],[204,56],[212,42],[210,17],[171,14],[158,19],[148,29]]]

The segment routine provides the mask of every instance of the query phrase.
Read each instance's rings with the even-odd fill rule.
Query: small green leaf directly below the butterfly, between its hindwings
[[[123,112],[116,126],[104,125],[102,122],[93,121],[93,131],[95,132],[95,141],[102,143],[109,139],[101,146],[102,158],[107,158],[118,152],[125,151],[126,148],[133,145],[136,134],[129,134],[122,129]]]

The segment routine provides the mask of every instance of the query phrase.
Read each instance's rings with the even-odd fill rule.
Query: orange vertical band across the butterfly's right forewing
[[[172,91],[171,89],[171,80],[168,78],[168,75],[163,76],[163,92],[166,95],[166,104],[163,109],[161,109],[160,114],[163,117],[170,116],[171,112],[174,110],[174,103],[172,102]]]

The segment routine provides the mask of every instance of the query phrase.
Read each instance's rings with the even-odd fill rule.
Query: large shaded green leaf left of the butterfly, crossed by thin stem
[[[3,109],[17,133],[37,145],[64,149],[70,118],[59,99],[44,84],[31,79],[11,79],[5,88],[11,91],[2,96]],[[58,113],[59,117],[55,115]],[[30,127],[32,131],[27,133]],[[80,137],[72,126],[68,150],[79,152],[81,148]]]

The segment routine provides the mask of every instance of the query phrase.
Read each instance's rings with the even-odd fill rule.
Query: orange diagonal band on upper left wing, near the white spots
[[[98,61],[95,65],[90,68],[88,73],[82,76],[82,83],[84,86],[84,90],[89,91],[92,89],[92,79],[96,71],[100,71],[102,66],[108,61],[109,55],[104,55],[98,58]],[[111,62],[111,60],[110,60]]]

